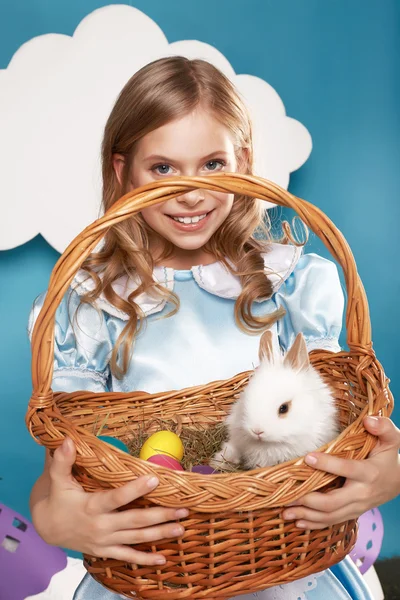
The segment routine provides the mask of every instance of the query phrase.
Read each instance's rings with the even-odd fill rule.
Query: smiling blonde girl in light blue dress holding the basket
[[[181,57],[155,61],[122,90],[105,128],[102,164],[105,210],[127,191],[172,175],[251,173],[248,113],[231,82],[212,65]],[[257,200],[194,190],[114,226],[57,311],[53,390],[158,392],[229,378],[257,363],[266,327],[282,349],[301,331],[309,350],[338,351],[343,296],[335,265],[262,239],[263,220]],[[43,299],[35,302],[30,330]],[[394,426],[391,432],[397,435]],[[393,483],[400,469],[397,465],[395,471],[394,453],[389,454],[384,472],[390,468],[391,475],[382,501],[400,488],[400,475]],[[38,532],[51,544],[92,555],[162,564],[163,556],[138,552],[135,544],[182,535],[173,521],[186,516],[186,509],[118,512],[157,480],[143,477],[117,490],[88,494],[71,476],[74,458],[68,439],[52,459],[47,455],[31,495]],[[382,482],[374,483],[381,493]],[[366,489],[365,484],[360,497]],[[377,494],[370,492],[373,504],[359,503],[357,509],[354,496],[355,514],[347,508],[343,513],[349,505],[343,495],[331,498],[325,509],[323,495],[310,494],[290,510],[308,511],[303,513],[308,522],[299,526],[319,519],[314,526],[324,527],[335,511],[342,510],[341,520],[334,521],[341,522],[375,506]],[[350,559],[258,597],[371,598]],[[89,575],[74,596],[116,598]]]

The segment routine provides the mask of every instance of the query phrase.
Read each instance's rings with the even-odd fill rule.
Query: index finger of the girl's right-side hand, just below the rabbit
[[[345,479],[370,483],[377,477],[377,468],[366,460],[351,460],[331,456],[330,454],[312,452],[307,454],[305,462],[320,471],[332,473]]]

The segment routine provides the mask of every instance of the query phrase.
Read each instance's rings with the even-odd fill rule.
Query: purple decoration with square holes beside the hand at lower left
[[[66,566],[61,548],[46,544],[28,519],[0,504],[0,598],[24,600],[39,594]]]

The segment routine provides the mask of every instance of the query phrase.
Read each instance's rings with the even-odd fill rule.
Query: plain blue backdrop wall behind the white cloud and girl
[[[30,38],[49,32],[71,35],[84,16],[107,4],[113,3],[2,0],[0,68],[6,68]],[[153,18],[170,42],[208,42],[225,54],[237,73],[268,81],[288,115],[308,128],[313,152],[292,175],[289,189],[322,208],[349,241],[369,298],[375,350],[398,397],[400,2],[125,4]],[[0,203],[5,211],[7,198]],[[327,255],[315,238],[310,249]],[[41,470],[43,453],[24,425],[31,391],[26,323],[31,303],[47,287],[57,258],[40,236],[0,252],[0,500],[23,515],[29,515],[29,491]],[[399,417],[397,409],[397,423]],[[400,499],[382,507],[382,512],[386,527],[382,556],[399,555]]]

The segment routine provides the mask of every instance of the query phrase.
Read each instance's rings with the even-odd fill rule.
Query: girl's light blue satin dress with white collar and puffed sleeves
[[[277,306],[286,309],[286,316],[274,327],[275,343],[286,349],[301,331],[309,350],[337,351],[344,303],[336,266],[317,255],[302,255],[296,248],[278,244],[264,256],[264,262],[274,294],[255,303],[253,312],[265,314]],[[110,373],[108,359],[127,316],[105,298],[97,301],[97,310],[80,305],[80,295],[91,283],[82,272],[77,274],[57,311],[53,390],[165,391],[229,378],[258,363],[259,336],[242,332],[234,320],[239,279],[223,265],[188,271],[157,268],[154,277],[177,293],[180,309],[172,317],[160,318],[168,314],[169,306],[143,294],[138,298],[147,315],[146,326],[136,340],[126,376],[118,380]],[[121,280],[115,288],[127,296],[134,285],[137,283]],[[43,300],[44,294],[35,302],[30,330]],[[117,598],[120,596],[90,575],[74,595],[74,600]],[[372,600],[350,558],[323,573],[240,598]]]

